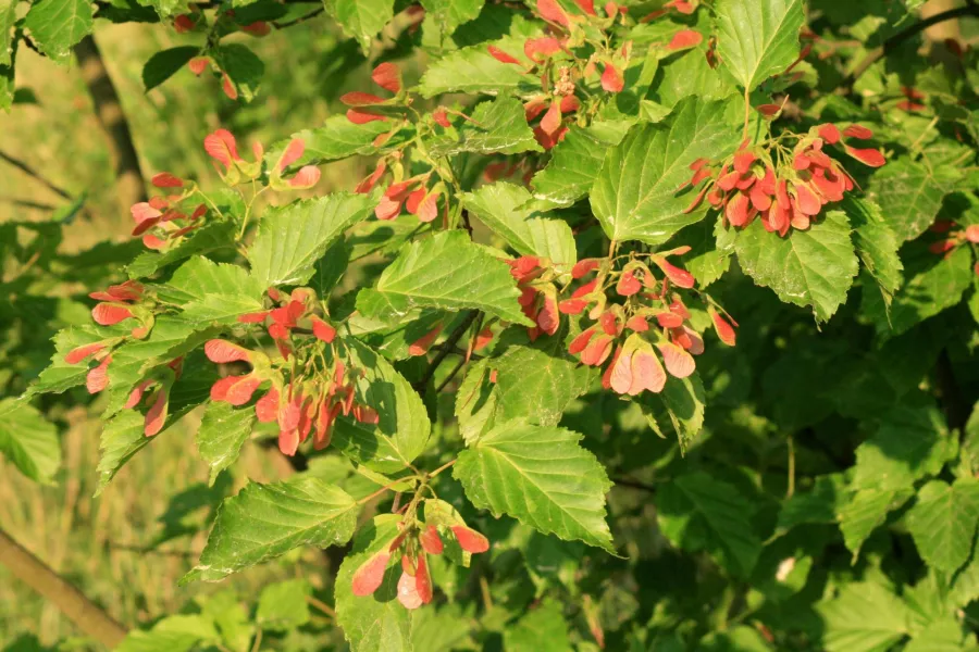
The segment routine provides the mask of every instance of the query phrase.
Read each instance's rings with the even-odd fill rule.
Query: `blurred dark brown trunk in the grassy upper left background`
[[[78,58],[78,66],[91,95],[96,116],[106,131],[109,149],[115,160],[116,197],[120,205],[128,210],[131,205],[146,200],[146,181],[139,170],[139,156],[133,145],[129,123],[91,35],[75,46],[75,57]]]

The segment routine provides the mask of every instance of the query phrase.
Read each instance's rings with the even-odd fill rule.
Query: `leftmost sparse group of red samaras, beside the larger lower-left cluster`
[[[140,305],[144,299],[144,288],[135,280],[110,286],[108,289],[89,294],[99,303],[91,310],[91,316],[97,324],[112,326],[125,319],[138,319],[139,325],[131,330],[131,336],[142,339],[149,335],[152,328],[152,312]],[[109,365],[112,363],[112,351],[127,339],[126,336],[107,338],[97,342],[76,347],[67,352],[64,361],[67,364],[79,364],[89,358],[96,361],[96,366],[85,376],[85,387],[89,393],[98,393],[109,387]],[[183,358],[172,360],[168,365],[156,369],[150,378],[144,379],[129,392],[125,409],[136,408],[148,397],[149,410],[144,421],[144,434],[151,437],[163,428],[166,422],[170,404],[170,388],[181,377]]]

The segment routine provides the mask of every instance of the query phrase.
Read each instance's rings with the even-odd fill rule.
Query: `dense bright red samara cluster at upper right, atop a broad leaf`
[[[779,165],[772,164],[768,150],[753,148],[747,142],[719,164],[697,159],[690,165],[693,176],[678,190],[704,185],[684,212],[693,212],[706,197],[721,212],[726,225],[744,228],[759,217],[766,230],[783,237],[790,228],[807,229],[825,205],[841,201],[843,193],[854,186],[843,166],[823,151],[823,146],[840,143],[845,138],[865,140],[872,136],[870,129],[859,125],[846,127],[841,134],[835,125],[825,124],[800,137],[792,160]],[[845,150],[871,167],[885,163],[883,154],[876,149],[846,146]]]

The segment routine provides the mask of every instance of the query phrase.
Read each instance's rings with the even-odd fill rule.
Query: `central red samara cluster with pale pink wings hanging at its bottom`
[[[620,272],[610,272],[603,266],[604,259],[585,259],[572,267],[571,276],[582,279],[594,272],[597,275],[565,300],[558,299],[549,261],[532,255],[508,261],[510,274],[521,291],[518,301],[523,314],[534,322],[528,329],[531,340],[542,334],[557,333],[561,313],[579,315],[587,311],[588,318],[596,323],[575,337],[568,351],[588,366],[602,366],[611,359],[602,379],[606,389],[630,396],[644,390],[659,392],[666,384],[667,372],[677,378],[690,376],[695,368],[691,354],[704,351],[704,340],[690,326],[690,312],[671,288],[690,289],[694,277],[667,260],[687,251],[689,247],[681,247],[648,255],[649,262],[662,273],[660,280],[641,260],[630,261]],[[608,304],[606,290],[611,287],[624,300],[623,304]],[[712,304],[708,305],[708,312],[721,341],[734,346],[733,321],[721,316]],[[620,342],[625,330],[632,335]],[[653,336],[666,372],[654,344],[646,339]]]

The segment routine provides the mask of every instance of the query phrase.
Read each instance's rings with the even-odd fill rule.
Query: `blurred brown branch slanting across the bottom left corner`
[[[22,548],[0,529],[0,563],[10,573],[61,610],[78,629],[107,648],[126,637],[126,628],[82,591],[62,579],[47,564]]]

